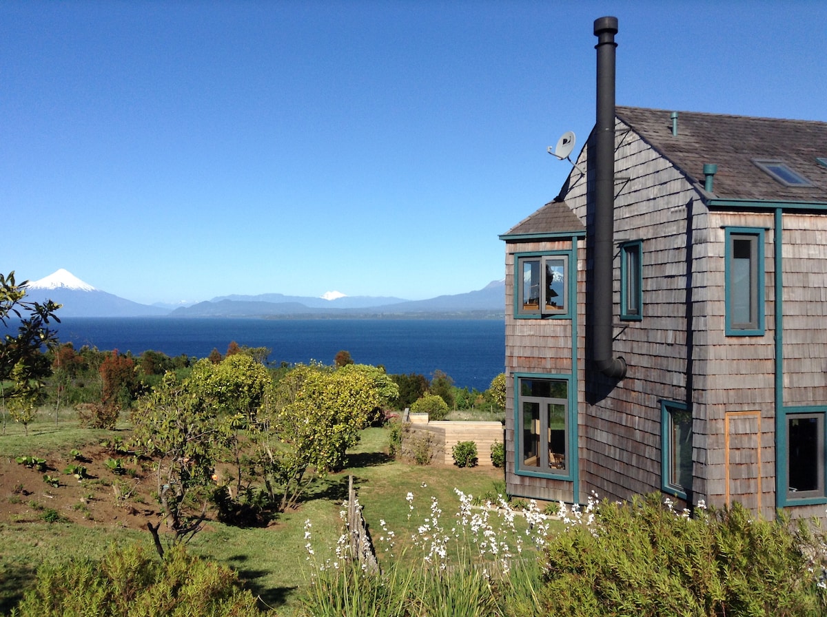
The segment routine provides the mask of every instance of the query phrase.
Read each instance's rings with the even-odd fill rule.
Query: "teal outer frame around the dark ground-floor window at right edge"
[[[810,444],[808,451],[806,444],[804,449],[791,444],[795,435],[791,434],[790,425],[794,420],[815,420],[816,430],[815,447]],[[782,422],[777,425],[777,457],[779,463],[777,477],[777,491],[780,497],[779,505],[817,505],[827,503],[827,408],[825,407],[792,407],[782,414]],[[815,456],[811,456],[815,450]],[[798,461],[794,457],[799,458]],[[795,482],[796,474],[801,473],[801,468],[809,463],[811,471],[815,473],[815,488],[800,490],[796,486],[790,486],[791,480]],[[797,482],[796,482],[797,483]]]

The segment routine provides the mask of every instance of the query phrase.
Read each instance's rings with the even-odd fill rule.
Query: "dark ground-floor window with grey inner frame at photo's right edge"
[[[786,416],[787,499],[825,496],[824,414]]]

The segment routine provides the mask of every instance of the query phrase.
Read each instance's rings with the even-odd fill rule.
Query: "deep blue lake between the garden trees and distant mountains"
[[[176,319],[171,317],[67,317],[57,325],[60,341],[98,349],[206,358],[231,341],[272,349],[270,362],[332,364],[345,349],[357,363],[381,364],[388,373],[437,369],[459,387],[485,390],[505,366],[501,320],[398,319]]]

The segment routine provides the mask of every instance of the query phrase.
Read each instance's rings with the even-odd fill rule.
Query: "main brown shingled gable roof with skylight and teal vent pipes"
[[[704,164],[717,164],[713,193],[720,199],[827,202],[827,122],[615,107],[615,115],[672,161],[691,181],[704,184]],[[813,186],[788,187],[753,159],[783,161]]]

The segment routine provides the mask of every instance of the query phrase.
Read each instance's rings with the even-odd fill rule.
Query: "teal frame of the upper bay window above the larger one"
[[[571,251],[547,251],[540,253],[519,253],[514,255],[514,317],[517,319],[571,319],[572,298],[576,297],[573,291],[575,284],[571,267],[574,260]],[[544,295],[550,285],[547,282],[548,268],[554,262],[562,262],[563,281],[557,289],[562,292],[562,308],[557,310],[548,306]],[[538,270],[538,304],[531,308],[532,298],[525,298],[525,281],[523,279],[524,266],[527,263],[536,263]],[[547,298],[545,298],[547,300]]]

